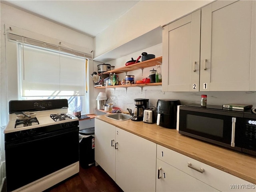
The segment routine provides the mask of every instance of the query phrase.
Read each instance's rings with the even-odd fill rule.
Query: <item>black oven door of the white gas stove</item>
[[[7,192],[78,162],[78,127],[5,143]]]

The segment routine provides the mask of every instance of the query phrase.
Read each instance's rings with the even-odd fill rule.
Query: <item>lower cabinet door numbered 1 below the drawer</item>
[[[159,159],[156,168],[156,192],[218,191]]]

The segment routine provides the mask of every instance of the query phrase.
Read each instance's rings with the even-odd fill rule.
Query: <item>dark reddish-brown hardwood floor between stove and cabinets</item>
[[[84,169],[44,192],[123,192],[100,166]]]

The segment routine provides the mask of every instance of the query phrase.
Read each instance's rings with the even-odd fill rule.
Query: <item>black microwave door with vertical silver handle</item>
[[[242,112],[180,106],[179,133],[241,151],[242,116]]]

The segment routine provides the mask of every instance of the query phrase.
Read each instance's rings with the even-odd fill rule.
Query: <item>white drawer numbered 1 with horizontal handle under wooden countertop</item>
[[[157,145],[157,158],[220,191],[254,191],[255,184]],[[190,163],[190,167],[188,166]],[[194,170],[194,169],[196,170]],[[197,171],[203,169],[202,173]],[[231,188],[233,185],[233,188]]]

